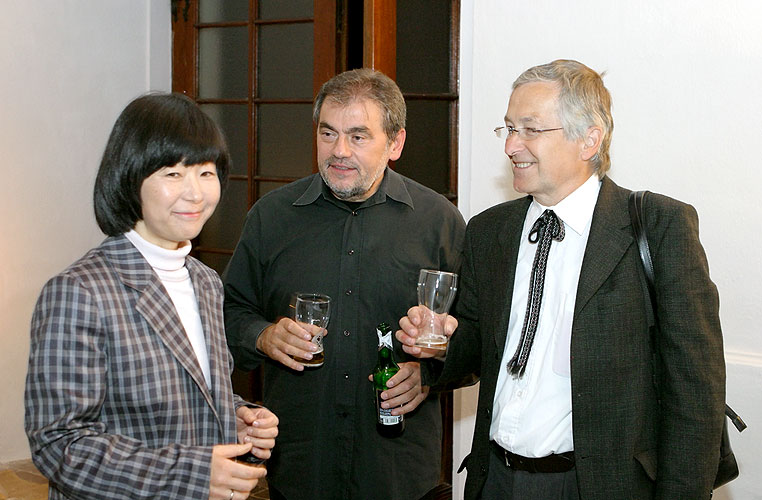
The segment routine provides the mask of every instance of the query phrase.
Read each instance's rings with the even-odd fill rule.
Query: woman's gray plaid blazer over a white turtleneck
[[[186,266],[211,368],[207,388],[159,277],[122,236],[43,288],[32,319],[26,431],[50,497],[207,498],[212,445],[237,441],[222,283]]]

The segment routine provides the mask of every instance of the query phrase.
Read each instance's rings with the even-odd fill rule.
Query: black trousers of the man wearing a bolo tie
[[[490,453],[489,472],[482,500],[580,500],[577,470],[568,472],[524,472],[511,469]]]

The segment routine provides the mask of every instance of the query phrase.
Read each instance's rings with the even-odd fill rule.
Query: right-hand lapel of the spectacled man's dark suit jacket
[[[606,281],[633,243],[627,191],[604,177],[582,260],[574,318]]]

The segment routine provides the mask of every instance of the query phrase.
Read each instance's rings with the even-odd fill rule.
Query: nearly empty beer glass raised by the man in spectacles
[[[457,274],[421,269],[418,274],[418,305],[423,308],[423,320],[415,345],[428,349],[447,348],[444,323],[457,290]]]

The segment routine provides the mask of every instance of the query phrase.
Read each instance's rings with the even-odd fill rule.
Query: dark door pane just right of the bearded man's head
[[[450,131],[447,101],[407,102],[407,137],[394,170],[438,193],[449,187]]]

